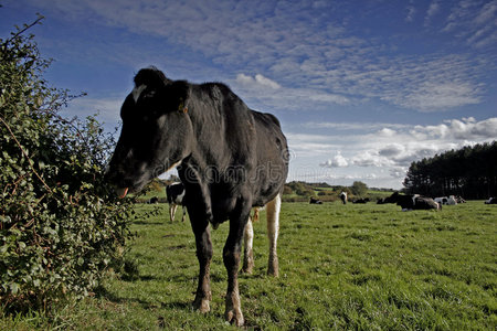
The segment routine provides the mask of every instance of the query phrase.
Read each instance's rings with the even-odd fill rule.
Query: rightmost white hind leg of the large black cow
[[[266,206],[267,215],[267,237],[269,238],[269,260],[267,263],[267,275],[278,276],[278,256],[276,246],[279,232],[279,210],[282,207],[282,199],[276,195]]]

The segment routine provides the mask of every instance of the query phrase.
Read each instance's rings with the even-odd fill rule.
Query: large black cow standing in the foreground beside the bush
[[[288,173],[288,148],[279,121],[250,109],[223,84],[170,81],[157,68],[138,72],[120,115],[123,129],[108,181],[125,196],[178,167],[200,265],[193,306],[201,312],[210,311],[211,300],[209,224],[216,228],[230,221],[223,248],[228,271],[224,317],[242,325],[237,275],[242,239],[254,206],[266,205],[267,273],[278,275],[281,194]]]

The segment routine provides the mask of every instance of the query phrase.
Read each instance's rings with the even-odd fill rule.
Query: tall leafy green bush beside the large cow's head
[[[114,145],[93,117],[66,120],[73,97],[42,78],[25,31],[0,39],[0,301],[43,308],[92,291],[129,235],[130,202],[106,186]]]

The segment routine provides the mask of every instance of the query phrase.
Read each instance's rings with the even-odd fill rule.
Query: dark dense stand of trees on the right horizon
[[[427,196],[461,195],[488,199],[497,195],[497,141],[450,150],[414,161],[403,182],[406,193]]]

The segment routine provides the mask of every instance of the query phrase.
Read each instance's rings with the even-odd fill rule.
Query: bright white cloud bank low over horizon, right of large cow
[[[309,122],[304,126],[313,128],[315,125]],[[340,135],[337,132],[330,136],[290,135],[292,138],[288,139],[292,149],[298,137],[299,147],[294,160],[296,164],[309,164],[314,161],[315,167],[330,171],[319,172],[307,166],[305,169],[313,169],[308,174],[315,180],[327,178],[340,182],[352,178],[362,178],[364,181],[374,178],[391,185],[396,181],[394,186],[400,188],[401,180],[413,161],[497,139],[497,117],[484,120],[473,117],[447,119],[434,126],[390,125],[395,130],[381,128],[381,124],[364,124],[362,130],[360,124],[339,126],[348,128],[350,132],[343,135],[347,130],[341,130]],[[368,126],[376,128],[376,131],[368,130]],[[334,126],[324,124],[322,127]],[[334,143],[329,143],[330,141]],[[310,146],[313,150],[306,149]],[[302,151],[305,153],[300,153]],[[316,160],[322,160],[324,157],[328,159],[316,163]]]

